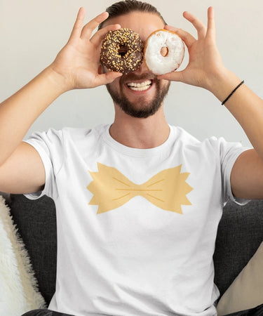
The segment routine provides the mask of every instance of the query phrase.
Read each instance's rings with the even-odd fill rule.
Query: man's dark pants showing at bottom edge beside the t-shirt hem
[[[262,316],[263,315],[263,304],[252,308],[250,310],[241,310],[241,312],[232,312],[225,316]],[[52,310],[31,310],[26,312],[22,316],[74,316],[69,314],[63,314],[62,312],[53,312]]]

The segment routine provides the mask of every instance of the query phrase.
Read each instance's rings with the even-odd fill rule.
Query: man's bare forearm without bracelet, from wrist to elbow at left
[[[30,126],[66,91],[59,74],[47,67],[0,105],[0,166],[18,147]]]

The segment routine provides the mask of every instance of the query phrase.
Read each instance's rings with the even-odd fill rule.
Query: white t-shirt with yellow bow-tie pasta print
[[[244,148],[170,126],[136,149],[109,126],[27,140],[55,201],[58,268],[49,308],[76,316],[216,315],[213,253],[230,173]]]

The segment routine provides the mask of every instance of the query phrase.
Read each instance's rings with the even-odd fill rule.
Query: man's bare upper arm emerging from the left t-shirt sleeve
[[[0,166],[0,191],[33,193],[43,190],[46,174],[39,153],[32,145],[20,143],[6,162]]]

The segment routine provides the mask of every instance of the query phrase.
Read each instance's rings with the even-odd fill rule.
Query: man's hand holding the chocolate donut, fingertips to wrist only
[[[95,32],[94,29],[107,19],[104,12],[83,27],[84,8],[80,8],[72,34],[64,48],[58,53],[50,68],[62,77],[65,91],[75,88],[94,88],[108,84],[117,77],[119,72],[100,73],[100,47],[104,36],[110,30],[119,29],[120,25],[108,25]]]

